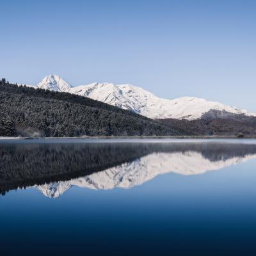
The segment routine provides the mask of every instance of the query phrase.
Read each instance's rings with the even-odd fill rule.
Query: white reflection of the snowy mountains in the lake
[[[256,158],[256,154],[232,157],[227,160],[210,161],[202,154],[194,151],[154,153],[86,177],[52,182],[42,186],[35,186],[35,188],[40,189],[45,196],[52,198],[62,195],[72,186],[90,189],[132,188],[164,173],[198,175],[212,170],[220,170],[253,158]]]

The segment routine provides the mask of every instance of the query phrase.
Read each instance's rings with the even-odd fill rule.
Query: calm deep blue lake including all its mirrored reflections
[[[1,255],[256,255],[255,140],[1,140]]]

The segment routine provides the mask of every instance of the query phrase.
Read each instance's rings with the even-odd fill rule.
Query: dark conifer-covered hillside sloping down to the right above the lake
[[[0,136],[161,136],[180,134],[145,116],[71,93],[0,80]]]

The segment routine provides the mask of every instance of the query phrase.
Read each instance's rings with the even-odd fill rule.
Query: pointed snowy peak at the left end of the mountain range
[[[38,88],[54,92],[70,92],[70,89],[72,88],[71,84],[67,83],[67,81],[56,74],[45,76],[37,86]]]

